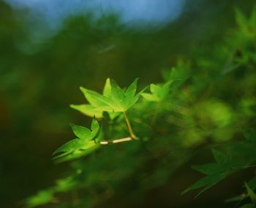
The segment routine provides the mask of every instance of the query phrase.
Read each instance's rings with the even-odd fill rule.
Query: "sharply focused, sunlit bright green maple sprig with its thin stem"
[[[94,117],[91,122],[91,130],[89,130],[89,128],[71,123],[70,126],[72,131],[74,132],[75,136],[78,137],[78,139],[73,139],[59,147],[53,153],[53,155],[59,153],[61,154],[55,156],[54,159],[58,159],[58,161],[62,162],[79,158],[92,153],[94,150],[97,150],[99,144],[108,144],[108,142],[100,141],[102,139],[100,138],[102,137],[102,134],[98,134],[99,123],[95,119],[97,115],[99,115],[99,118],[102,118],[104,112],[108,112],[110,118],[114,118],[116,116],[116,112],[124,112],[124,118],[127,122],[129,134],[132,139],[135,139],[136,136],[132,131],[132,126],[130,125],[125,112],[138,101],[140,94],[143,93],[143,90],[141,90],[136,94],[137,82],[138,79],[132,82],[127,89],[121,89],[114,80],[110,82],[110,79],[108,78],[105,82],[102,95],[93,90],[88,90],[81,87],[80,90],[83,92],[87,101],[89,101],[89,104],[80,106],[72,105],[71,107],[78,109],[80,112],[83,112],[86,115],[92,115]],[[113,142],[118,142],[118,140],[114,140]]]

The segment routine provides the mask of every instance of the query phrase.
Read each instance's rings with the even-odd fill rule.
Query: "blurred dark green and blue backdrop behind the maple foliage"
[[[79,86],[99,91],[107,77],[122,85],[140,77],[140,88],[161,82],[162,70],[179,59],[208,53],[235,27],[234,9],[249,14],[253,3],[0,1],[0,207],[22,206],[69,169],[69,163],[54,164],[51,153],[72,138],[69,123],[90,122],[69,108],[84,103]],[[226,190],[239,175],[219,185],[223,193],[180,196],[197,179],[189,166],[148,191],[144,202],[113,197],[97,206],[204,207],[207,201],[218,207],[232,196]]]

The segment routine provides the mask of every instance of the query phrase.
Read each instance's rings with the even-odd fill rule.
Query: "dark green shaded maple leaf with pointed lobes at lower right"
[[[247,135],[246,141],[227,145],[226,148],[227,155],[213,150],[214,158],[217,163],[193,166],[193,169],[207,176],[187,188],[187,190],[184,190],[184,193],[189,190],[204,187],[200,191],[200,193],[203,193],[203,191],[208,190],[213,185],[217,184],[217,182],[224,180],[225,177],[230,174],[249,168],[250,165],[255,163],[256,155],[254,150],[256,148],[256,131],[253,131],[249,136]],[[198,193],[197,196],[200,193]]]

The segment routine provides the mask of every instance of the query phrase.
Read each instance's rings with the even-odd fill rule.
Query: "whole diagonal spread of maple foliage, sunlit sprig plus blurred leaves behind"
[[[143,195],[165,185],[202,146],[214,147],[214,162],[192,166],[205,177],[183,193],[201,188],[198,196],[230,174],[254,169],[256,47],[255,31],[248,34],[248,27],[255,28],[256,11],[252,13],[248,19],[236,12],[236,32],[217,49],[209,49],[210,58],[195,50],[194,59],[179,60],[148,91],[137,93],[138,79],[121,88],[108,78],[102,94],[81,87],[88,104],[71,107],[93,118],[91,128],[71,124],[77,138],[53,153],[58,162],[72,160],[68,177],[29,198],[28,206],[80,193],[78,201],[64,201],[63,206],[95,207],[131,179],[134,184],[127,189],[136,193],[140,187]],[[256,177],[245,187],[246,194],[227,201],[250,198],[252,204],[243,207],[255,207]]]

